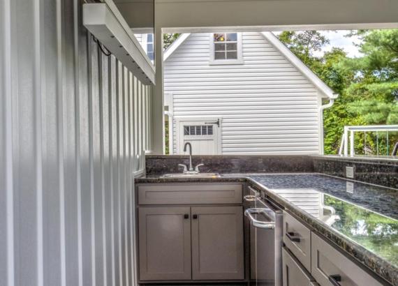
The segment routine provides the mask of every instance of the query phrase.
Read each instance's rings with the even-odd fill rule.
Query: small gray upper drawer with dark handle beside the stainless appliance
[[[311,230],[286,211],[283,211],[283,242],[304,267],[311,271]]]

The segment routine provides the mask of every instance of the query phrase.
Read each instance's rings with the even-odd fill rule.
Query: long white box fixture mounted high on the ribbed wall
[[[115,6],[115,9],[116,6]],[[119,11],[106,3],[85,3],[83,24],[143,84],[154,84],[155,68]],[[117,17],[119,15],[119,17]]]

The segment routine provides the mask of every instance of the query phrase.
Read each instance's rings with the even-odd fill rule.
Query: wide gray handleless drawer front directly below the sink
[[[239,183],[176,183],[138,186],[138,204],[241,204]]]

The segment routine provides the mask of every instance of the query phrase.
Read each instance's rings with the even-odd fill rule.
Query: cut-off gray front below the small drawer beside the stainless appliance
[[[286,248],[282,248],[283,286],[316,286],[318,285],[310,273],[302,268]]]

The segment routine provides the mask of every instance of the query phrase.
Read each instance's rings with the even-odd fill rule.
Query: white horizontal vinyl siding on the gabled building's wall
[[[210,66],[209,33],[191,34],[171,54],[164,93],[173,115],[221,116],[225,155],[318,154],[316,86],[261,33],[242,33],[242,43],[241,65]]]

